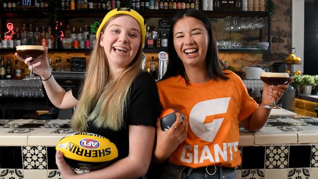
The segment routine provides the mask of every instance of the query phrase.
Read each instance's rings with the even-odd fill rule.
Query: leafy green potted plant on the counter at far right
[[[291,85],[296,88],[298,94],[310,95],[317,83],[312,75],[295,75]]]

